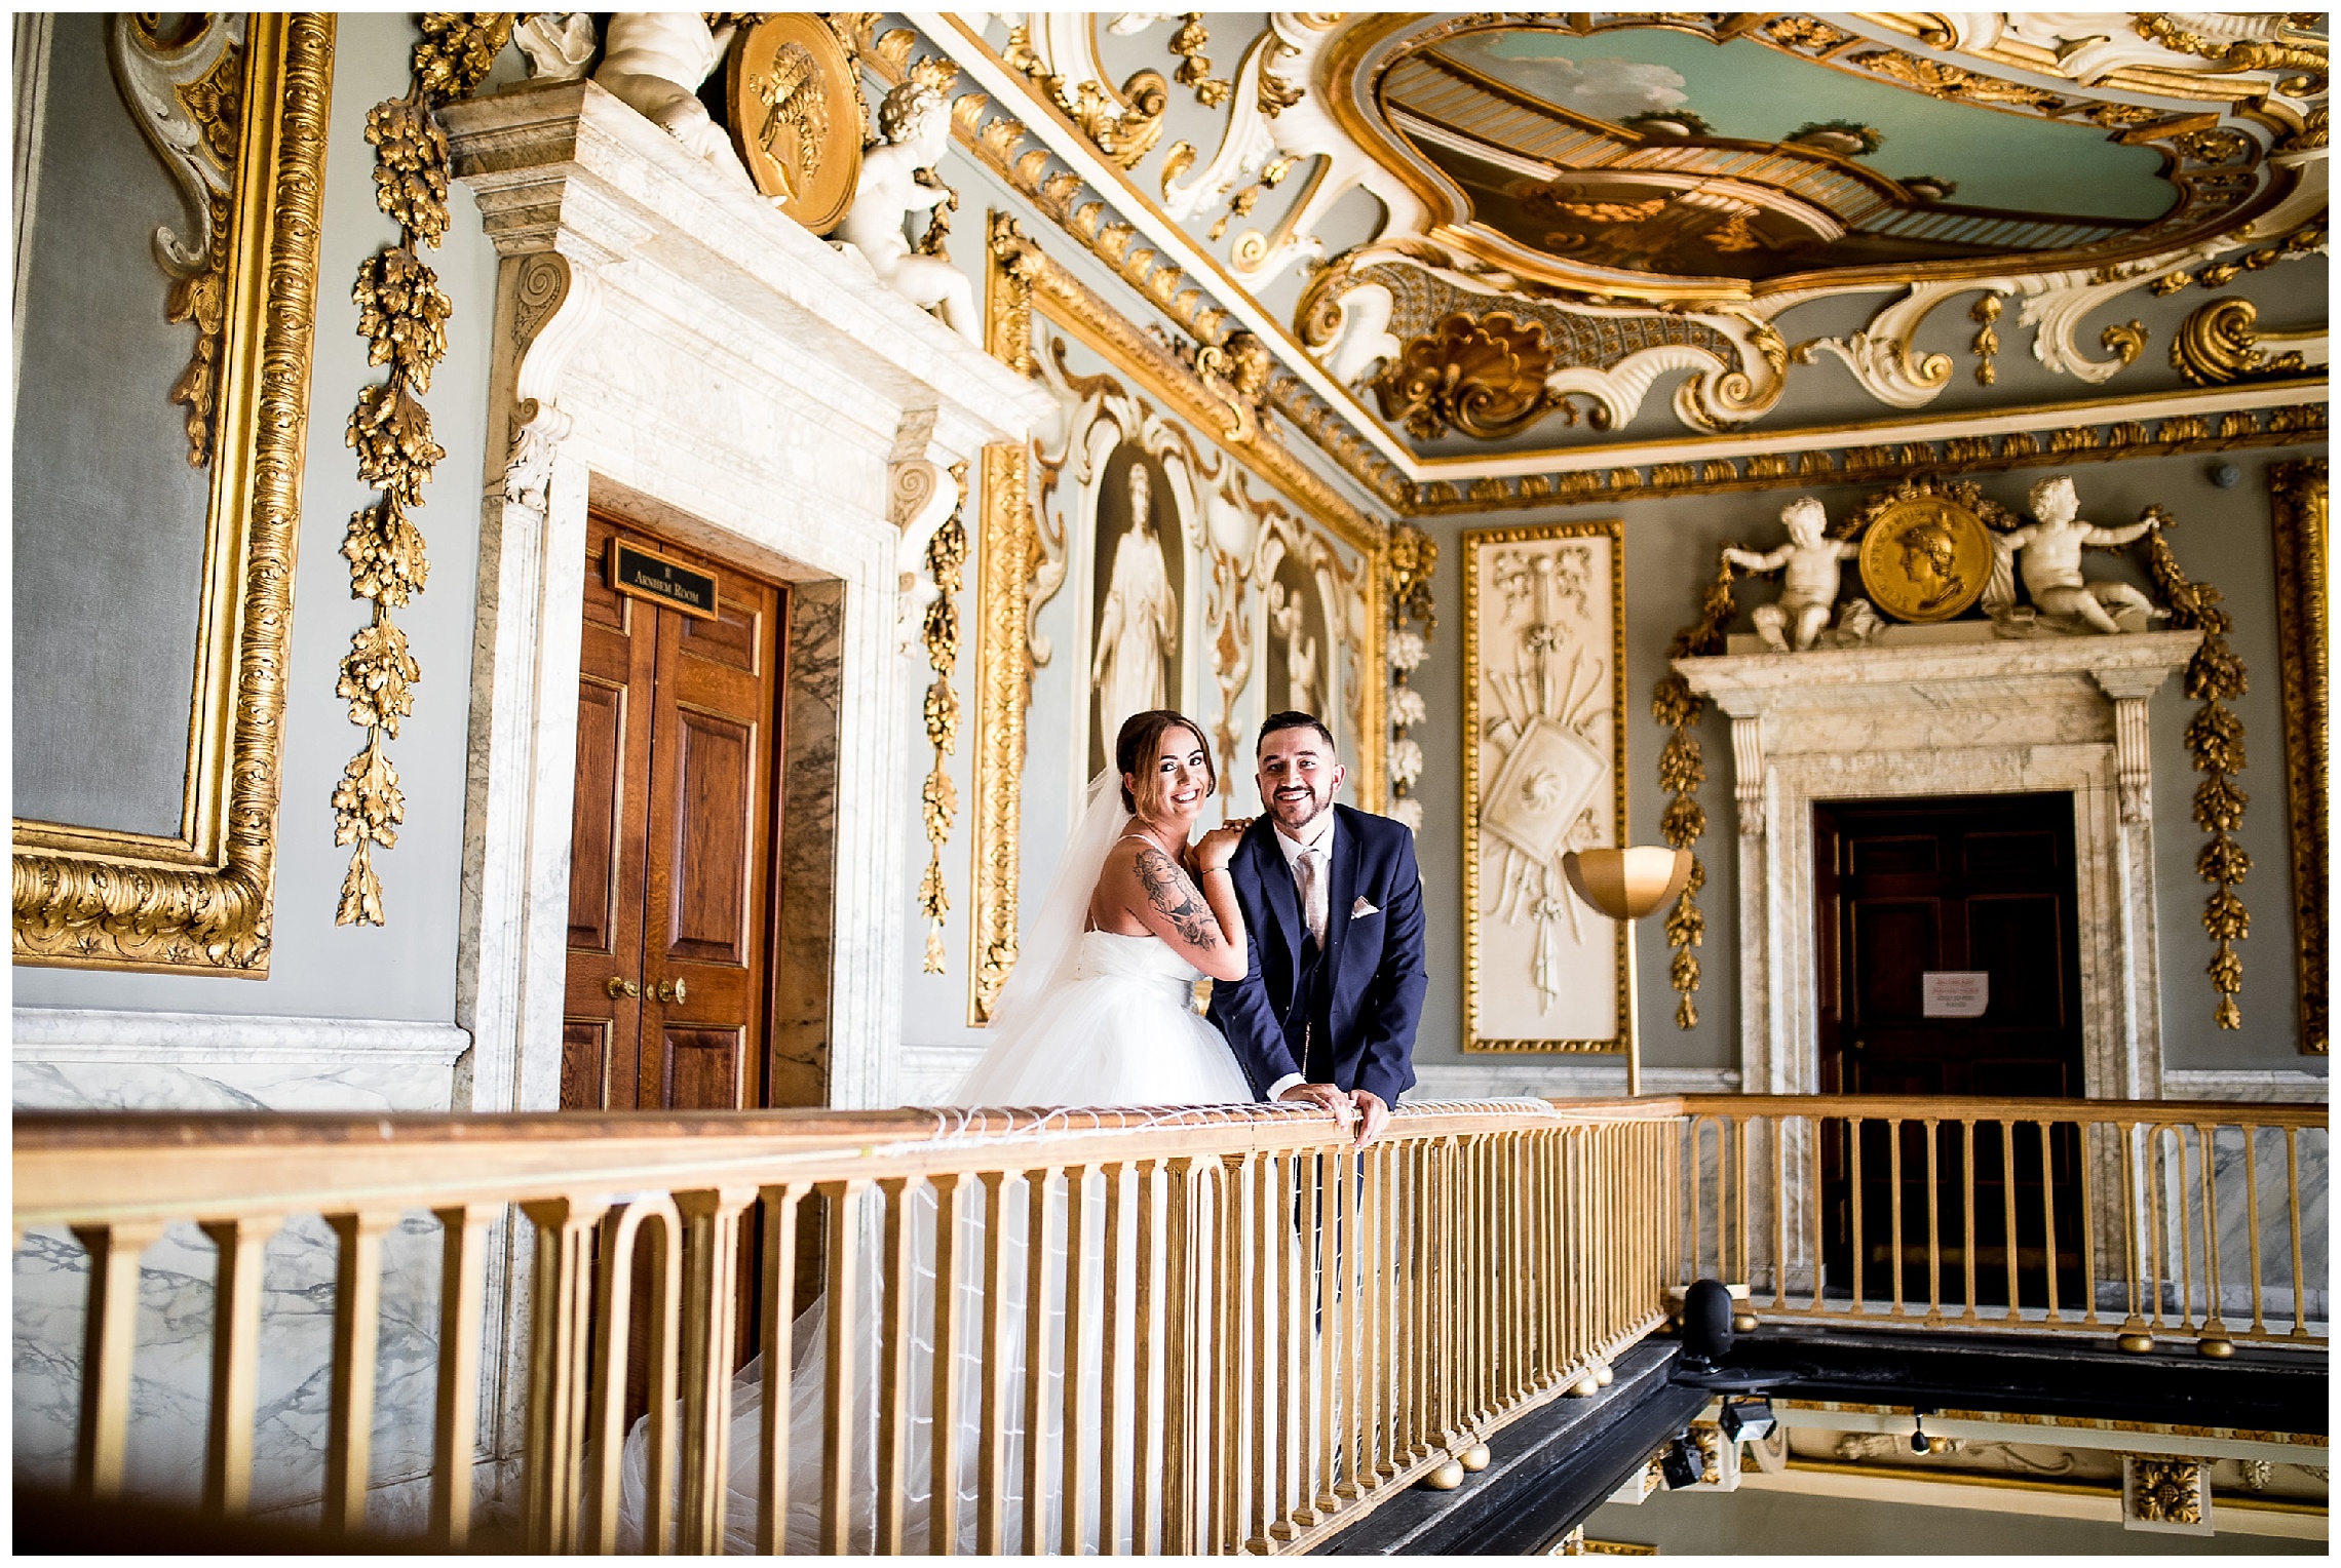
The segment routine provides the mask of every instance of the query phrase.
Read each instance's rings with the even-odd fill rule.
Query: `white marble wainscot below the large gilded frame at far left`
[[[445,1112],[471,1037],[447,1023],[14,1009],[14,1107]],[[379,1383],[370,1500],[377,1528],[414,1528],[431,1472],[438,1369],[438,1224],[407,1215],[384,1238]],[[194,1500],[211,1402],[218,1252],[171,1226],[140,1264],[131,1374],[129,1488]],[[267,1245],[253,1435],[253,1509],[314,1512],[325,1481],[335,1238],[316,1215]],[[80,1421],[87,1254],[63,1231],[28,1231],[12,1264],[14,1467],[63,1484]]]

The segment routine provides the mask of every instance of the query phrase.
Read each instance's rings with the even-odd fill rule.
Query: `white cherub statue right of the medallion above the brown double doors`
[[[976,321],[967,274],[941,255],[918,250],[904,229],[911,213],[957,201],[948,185],[932,178],[950,145],[950,105],[943,101],[948,80],[948,66],[920,61],[878,105],[880,138],[861,154],[861,185],[854,187],[854,206],[845,213],[840,234],[880,283],[920,309],[941,304],[943,321],[981,346],[983,325]]]

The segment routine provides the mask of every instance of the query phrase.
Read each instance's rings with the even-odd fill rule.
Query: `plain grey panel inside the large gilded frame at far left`
[[[152,234],[178,185],[105,63],[105,16],[54,19],[14,442],[14,814],[176,835],[208,468],[187,463]]]

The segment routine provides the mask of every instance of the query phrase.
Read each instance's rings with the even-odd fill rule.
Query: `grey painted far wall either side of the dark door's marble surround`
[[[2163,967],[2163,1058],[2170,1067],[2311,1067],[2320,1058],[2299,1055],[2299,1002],[2292,960],[2292,873],[2285,850],[2285,754],[2282,702],[2275,672],[2275,580],[2268,531],[2271,463],[2322,447],[2297,452],[2240,452],[2224,459],[2168,456],[2128,463],[2083,463],[2072,468],[2081,491],[2083,515],[2098,522],[2133,522],[2151,501],[2163,503],[2179,527],[2172,550],[2198,580],[2210,580],[2226,594],[2236,615],[2229,639],[2250,669],[2250,693],[2236,702],[2247,737],[2243,789],[2252,796],[2243,847],[2252,857],[2252,875],[2243,885],[2252,910],[2252,938],[2243,955],[2243,1030],[2212,1027],[2215,995],[2203,967],[2210,962],[2210,938],[2203,936],[2201,910],[2210,892],[2194,873],[2203,845],[2191,821],[2191,798],[2198,775],[2184,747],[2184,728],[2194,702],[2172,679],[2151,702],[2154,723],[2154,847],[2156,896],[2161,915]],[[2208,473],[2212,461],[2233,461],[2243,482],[2217,489]],[[2048,468],[1983,475],[1983,491],[2002,506],[2023,510],[2025,491]],[[1877,484],[1833,489],[1782,489],[1730,496],[1655,498],[1606,508],[1559,508],[1547,513],[1508,513],[1503,517],[1435,520],[1423,527],[1440,543],[1435,597],[1440,627],[1430,644],[1430,662],[1414,674],[1414,686],[1430,704],[1430,723],[1416,728],[1428,768],[1416,791],[1423,800],[1421,835],[1423,899],[1430,915],[1430,997],[1414,1060],[1444,1062],[1461,1055],[1463,1034],[1463,552],[1468,527],[1512,524],[1559,517],[1622,517],[1627,538],[1627,690],[1632,697],[1627,725],[1627,826],[1634,843],[1657,843],[1657,814],[1664,793],[1657,789],[1657,749],[1667,733],[1650,721],[1650,688],[1664,669],[1667,641],[1693,618],[1697,594],[1714,573],[1716,550],[1737,541],[1767,548],[1782,536],[1779,508],[1798,494],[1814,494],[1831,517],[1842,517]],[[2126,559],[2091,555],[2091,571],[2126,571]],[[2144,585],[2142,573],[2133,573]],[[1770,597],[1767,585],[1742,587],[1746,608]],[[1737,988],[1735,969],[1735,812],[1730,721],[1709,709],[1700,725],[1707,756],[1707,838],[1700,857],[1707,864],[1707,945],[1700,948],[1702,988],[1700,1025],[1690,1032],[1671,1025],[1674,992],[1667,988],[1664,948],[1655,922],[1641,934],[1641,1018],[1643,1060],[1669,1067],[1737,1065]],[[1470,1058],[1491,1060],[1491,1058]],[[1557,1058],[1538,1058],[1557,1060]]]

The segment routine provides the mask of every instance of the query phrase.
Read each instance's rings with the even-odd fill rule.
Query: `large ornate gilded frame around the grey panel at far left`
[[[267,978],[332,42],[330,14],[250,14],[220,126],[234,194],[180,831],[16,819],[19,964]]]

